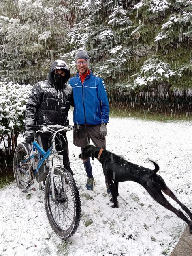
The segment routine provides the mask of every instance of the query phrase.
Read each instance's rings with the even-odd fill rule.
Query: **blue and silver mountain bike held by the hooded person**
[[[63,167],[61,151],[56,151],[55,139],[63,132],[74,131],[71,126],[29,125],[30,129],[41,129],[52,135],[50,147],[44,149],[34,140],[32,145],[19,143],[15,149],[13,170],[17,186],[27,191],[34,183],[44,182],[45,210],[51,228],[62,238],[69,238],[77,231],[81,218],[81,201],[75,179]],[[56,130],[56,131],[55,131]],[[62,133],[61,133],[62,132]],[[64,138],[64,136],[63,136]],[[64,139],[66,142],[66,140]],[[65,145],[66,147],[66,145]],[[63,149],[64,150],[64,149]]]

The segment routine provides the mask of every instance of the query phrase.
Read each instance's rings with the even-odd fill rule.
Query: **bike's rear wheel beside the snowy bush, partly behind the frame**
[[[31,183],[29,182],[29,165],[30,162],[23,161],[29,158],[30,149],[27,143],[19,143],[15,149],[13,158],[13,173],[17,186],[22,190],[26,191]]]

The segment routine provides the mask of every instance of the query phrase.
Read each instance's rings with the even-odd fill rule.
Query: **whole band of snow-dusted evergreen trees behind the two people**
[[[56,58],[75,73],[75,53],[84,49],[113,102],[117,88],[143,90],[143,65],[157,61],[175,74],[169,88],[191,88],[190,0],[7,0],[0,15],[2,81],[44,80]]]

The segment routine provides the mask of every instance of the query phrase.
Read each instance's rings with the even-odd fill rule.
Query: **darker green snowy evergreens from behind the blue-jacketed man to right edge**
[[[147,91],[163,85],[168,93],[191,87],[192,1],[89,0],[78,6],[76,24],[67,34],[73,53],[64,57],[72,67],[77,49],[87,50],[113,102],[119,87]]]

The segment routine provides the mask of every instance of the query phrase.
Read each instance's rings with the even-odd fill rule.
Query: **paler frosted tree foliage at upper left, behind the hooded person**
[[[64,49],[68,10],[60,0],[7,0],[0,11],[3,81],[45,80],[51,62]]]

